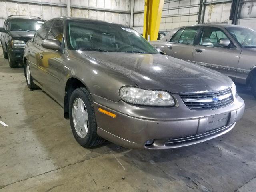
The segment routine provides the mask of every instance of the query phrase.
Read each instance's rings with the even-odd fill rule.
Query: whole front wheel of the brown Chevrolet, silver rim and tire
[[[83,147],[93,147],[104,142],[97,135],[97,123],[92,97],[86,88],[77,88],[70,96],[70,126],[76,141]]]

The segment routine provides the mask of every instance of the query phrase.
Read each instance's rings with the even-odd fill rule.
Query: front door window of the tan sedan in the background
[[[204,27],[200,45],[220,47],[219,43],[222,39],[228,39],[222,30],[215,27]]]

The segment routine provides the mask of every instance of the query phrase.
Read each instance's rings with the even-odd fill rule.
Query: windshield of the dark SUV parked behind
[[[42,20],[35,19],[11,19],[10,30],[11,31],[36,31],[44,23]]]

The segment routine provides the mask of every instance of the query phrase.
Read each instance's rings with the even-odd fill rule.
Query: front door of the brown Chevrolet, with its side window
[[[47,39],[57,39],[63,43],[63,22],[56,20],[52,25]],[[39,54],[38,70],[42,79],[43,87],[58,102],[62,91],[61,85],[62,53],[57,50],[42,48]]]

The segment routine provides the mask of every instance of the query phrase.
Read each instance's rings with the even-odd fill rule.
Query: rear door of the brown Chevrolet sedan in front
[[[42,24],[39,30],[36,32],[32,43],[29,46],[29,66],[31,75],[35,80],[37,80],[40,84],[42,84],[42,79],[38,73],[38,62],[39,62],[39,55],[42,52],[42,41],[45,39],[46,35],[50,30],[50,26],[52,25],[53,21],[48,21]]]

